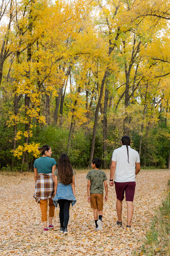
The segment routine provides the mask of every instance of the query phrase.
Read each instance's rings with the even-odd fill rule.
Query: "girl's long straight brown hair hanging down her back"
[[[69,185],[73,182],[73,168],[67,154],[62,154],[58,160],[58,176],[61,183]]]

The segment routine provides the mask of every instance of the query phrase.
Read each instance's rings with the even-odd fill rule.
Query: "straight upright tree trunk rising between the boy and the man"
[[[104,110],[103,110],[103,168],[107,168],[107,105],[108,89],[105,89]]]

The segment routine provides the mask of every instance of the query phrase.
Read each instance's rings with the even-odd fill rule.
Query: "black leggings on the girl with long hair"
[[[59,218],[60,218],[60,226],[67,228],[68,221],[69,221],[69,210],[70,210],[70,200],[66,199],[59,199],[58,204],[60,206],[60,213],[59,213]]]

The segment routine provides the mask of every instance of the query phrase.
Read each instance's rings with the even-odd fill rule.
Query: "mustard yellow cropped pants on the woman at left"
[[[53,204],[52,198],[48,199],[41,199],[39,202],[40,209],[41,209],[41,221],[47,221],[47,208],[49,205],[49,217],[54,217],[54,210],[55,210],[55,205]]]

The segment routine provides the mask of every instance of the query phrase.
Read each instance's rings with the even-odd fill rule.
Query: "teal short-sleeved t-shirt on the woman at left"
[[[52,167],[56,165],[54,158],[44,156],[34,161],[34,167],[37,168],[38,173],[52,173]]]

